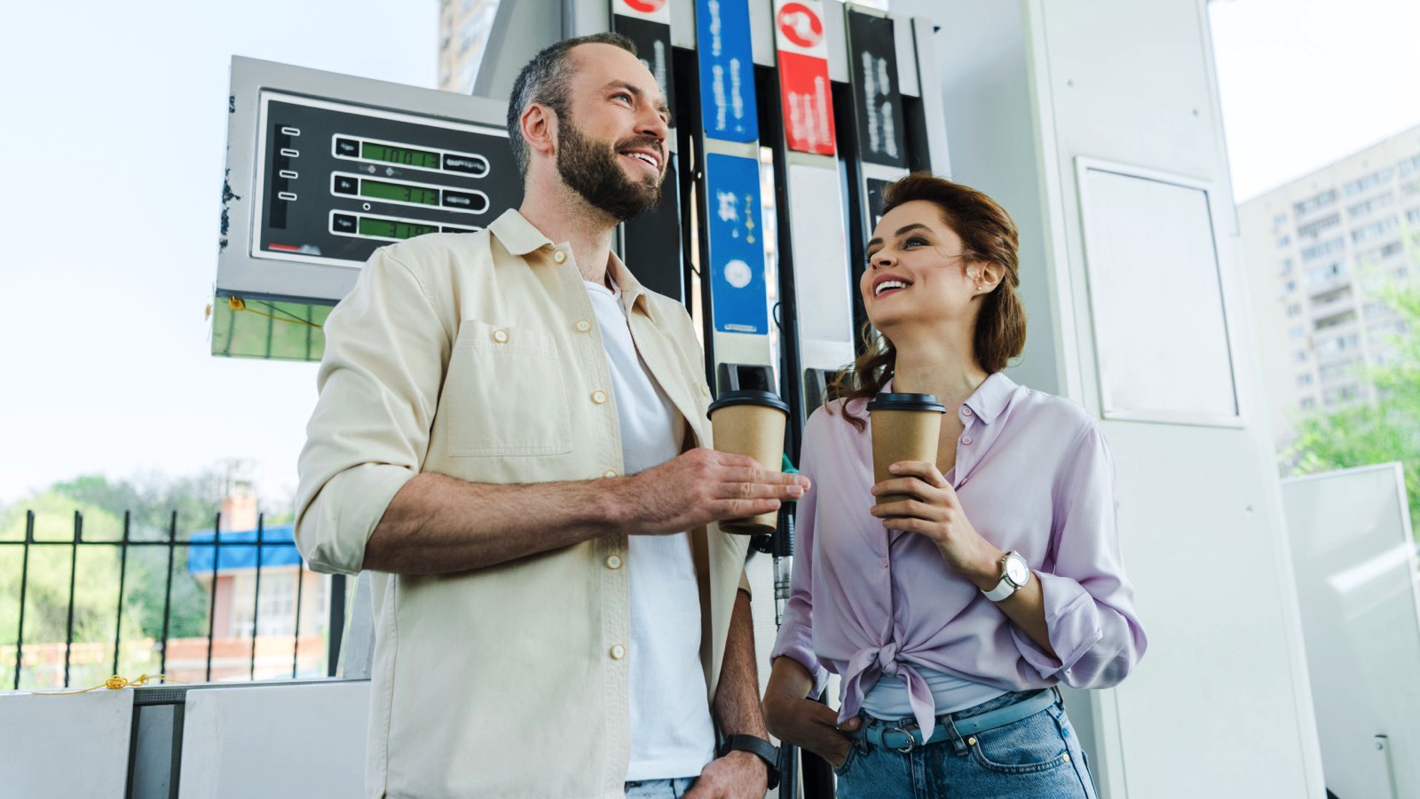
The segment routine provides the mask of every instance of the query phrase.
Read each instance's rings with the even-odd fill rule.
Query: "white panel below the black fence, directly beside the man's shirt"
[[[364,681],[187,691],[178,796],[364,796],[368,731]]]

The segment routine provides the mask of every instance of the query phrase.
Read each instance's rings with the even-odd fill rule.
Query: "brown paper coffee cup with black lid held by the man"
[[[714,448],[720,452],[748,455],[765,469],[781,471],[784,463],[784,425],[790,407],[768,391],[727,391],[710,404],[710,427]],[[757,536],[772,533],[778,512],[760,513],[747,519],[720,522],[727,533]]]

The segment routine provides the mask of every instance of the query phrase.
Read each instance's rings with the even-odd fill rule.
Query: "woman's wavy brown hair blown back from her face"
[[[941,210],[941,220],[961,237],[961,252],[966,256],[961,259],[961,269],[968,262],[1001,269],[1001,283],[981,300],[971,343],[977,363],[987,374],[1001,371],[1025,347],[1025,307],[1015,296],[1021,283],[1015,222],[994,199],[930,172],[913,172],[890,183],[883,192],[882,213],[913,200],[936,205]],[[892,380],[897,350],[870,323],[863,324],[862,334],[863,354],[834,378],[828,390],[831,401],[872,398]],[[862,431],[865,422],[848,412],[848,402],[843,415]]]

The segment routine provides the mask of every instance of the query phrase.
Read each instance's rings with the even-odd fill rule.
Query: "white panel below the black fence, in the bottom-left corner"
[[[0,795],[122,799],[132,691],[0,692]]]

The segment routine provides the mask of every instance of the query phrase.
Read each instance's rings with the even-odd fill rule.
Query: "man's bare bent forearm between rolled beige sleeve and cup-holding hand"
[[[605,482],[494,485],[416,475],[369,536],[364,567],[446,574],[609,535],[616,508]]]

